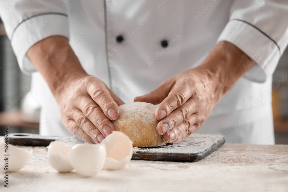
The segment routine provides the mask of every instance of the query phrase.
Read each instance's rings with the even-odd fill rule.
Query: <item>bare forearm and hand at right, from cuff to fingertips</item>
[[[134,99],[160,103],[155,111],[160,121],[156,130],[166,142],[178,143],[198,130],[213,107],[247,71],[243,65],[250,58],[246,54],[226,41],[216,46],[219,49],[198,67],[178,73],[154,91]]]

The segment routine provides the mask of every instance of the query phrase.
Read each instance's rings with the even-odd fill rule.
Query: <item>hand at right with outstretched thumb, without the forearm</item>
[[[154,91],[134,101],[159,104],[157,132],[168,143],[178,143],[198,130],[217,104],[219,95],[208,73],[189,69],[162,82]]]

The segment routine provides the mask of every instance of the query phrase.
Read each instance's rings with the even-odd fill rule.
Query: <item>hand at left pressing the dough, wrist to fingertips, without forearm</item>
[[[115,130],[111,121],[119,117],[118,104],[124,102],[120,100],[117,104],[117,96],[109,92],[100,79],[89,75],[74,75],[69,81],[63,82],[61,87],[55,98],[63,123],[75,136],[100,143]]]

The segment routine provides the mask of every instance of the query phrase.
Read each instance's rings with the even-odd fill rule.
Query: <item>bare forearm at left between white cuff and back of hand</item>
[[[88,76],[65,37],[43,39],[27,51],[27,56],[54,96],[72,79]]]

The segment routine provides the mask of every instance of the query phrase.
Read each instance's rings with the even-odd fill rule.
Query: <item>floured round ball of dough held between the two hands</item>
[[[162,135],[156,131],[156,106],[146,102],[134,102],[119,106],[120,116],[112,121],[116,131],[125,133],[133,147],[158,147],[166,145]]]

